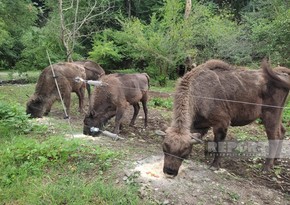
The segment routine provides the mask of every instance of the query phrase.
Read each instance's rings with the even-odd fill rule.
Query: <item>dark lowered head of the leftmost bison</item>
[[[31,98],[26,104],[26,114],[32,118],[41,118],[44,113],[44,101],[40,97]]]

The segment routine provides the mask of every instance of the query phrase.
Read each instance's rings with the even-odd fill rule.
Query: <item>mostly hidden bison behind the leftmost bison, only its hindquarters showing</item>
[[[81,65],[86,71],[86,80],[99,80],[105,75],[104,69],[97,63],[91,60],[74,61],[73,63]],[[89,96],[91,95],[91,86],[86,86]]]

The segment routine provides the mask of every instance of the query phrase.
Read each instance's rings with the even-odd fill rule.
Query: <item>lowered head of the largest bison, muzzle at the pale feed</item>
[[[194,137],[200,137],[198,133],[176,132],[172,129],[166,131],[163,141],[165,174],[176,176],[184,159],[187,159],[192,150],[192,145],[197,141]]]

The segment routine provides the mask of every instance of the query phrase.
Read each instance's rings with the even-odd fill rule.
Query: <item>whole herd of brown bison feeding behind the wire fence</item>
[[[90,84],[95,85],[92,92]],[[62,100],[66,108],[64,117],[69,117],[71,93],[77,94],[82,112],[87,89],[90,100],[83,121],[84,134],[98,135],[113,117],[113,132],[118,134],[130,105],[134,108],[130,121],[133,126],[140,110],[139,102],[146,128],[149,84],[150,77],[146,73],[105,74],[100,65],[89,60],[56,63],[40,74],[26,111],[31,117],[40,118],[50,112],[56,100]],[[193,145],[202,143],[210,128],[215,143],[211,167],[219,169],[220,146],[228,127],[248,125],[258,118],[269,140],[263,171],[273,170],[286,132],[281,116],[289,90],[290,69],[281,66],[272,69],[266,60],[258,70],[236,67],[221,60],[209,60],[192,68],[179,79],[175,88],[172,120],[162,145],[164,174],[178,175]]]

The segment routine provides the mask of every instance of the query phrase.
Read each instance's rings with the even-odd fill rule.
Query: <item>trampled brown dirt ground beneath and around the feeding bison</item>
[[[153,97],[169,97],[169,94],[151,92]],[[204,156],[203,145],[193,148],[190,158],[181,167],[175,178],[166,178],[162,173],[162,136],[156,134],[170,124],[171,111],[149,110],[149,122],[144,129],[144,114],[140,109],[136,125],[129,127],[132,110],[126,113],[120,133],[123,140],[113,141],[106,136],[86,137],[92,142],[122,150],[126,159],[118,163],[116,184],[139,183],[140,197],[156,204],[290,204],[290,161],[283,160],[277,169],[262,173],[263,159],[225,158],[222,169],[209,169],[211,158]],[[60,113],[52,110],[51,118]],[[71,116],[75,137],[81,133],[83,116]],[[109,121],[106,130],[112,131],[114,123]],[[252,124],[242,129],[257,132]],[[232,135],[229,133],[229,135]],[[212,134],[208,134],[211,138]],[[115,170],[115,168],[114,168]]]

